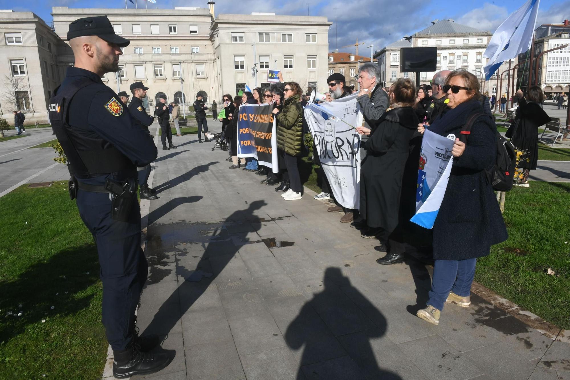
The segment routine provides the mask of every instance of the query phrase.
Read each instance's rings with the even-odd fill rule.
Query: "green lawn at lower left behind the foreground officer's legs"
[[[100,378],[97,252],[67,182],[0,198],[0,236],[0,378]]]

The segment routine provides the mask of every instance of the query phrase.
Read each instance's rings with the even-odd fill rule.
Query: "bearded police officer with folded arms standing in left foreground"
[[[103,318],[117,378],[160,370],[172,360],[164,351],[145,352],[158,337],[139,337],[135,309],[148,274],[141,249],[136,197],[137,166],[157,156],[146,131],[111,88],[101,82],[119,67],[129,40],[113,32],[106,16],[80,18],[67,33],[74,67],[67,69],[48,107],[51,125],[69,161],[70,197],[91,231],[103,282]]]

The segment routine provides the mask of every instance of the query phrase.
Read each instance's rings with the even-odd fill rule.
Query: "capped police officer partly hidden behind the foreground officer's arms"
[[[146,113],[146,110],[143,106],[143,99],[146,98],[146,90],[148,90],[148,87],[145,87],[143,82],[135,82],[131,84],[133,100],[131,100],[131,103],[129,103],[129,112],[131,112],[131,115],[133,118],[135,118],[136,124],[150,134],[148,127],[150,127],[150,124],[154,122],[154,118]],[[158,199],[159,197],[156,195],[156,190],[151,189],[148,186],[150,164],[137,169],[139,171],[139,187],[141,199]]]

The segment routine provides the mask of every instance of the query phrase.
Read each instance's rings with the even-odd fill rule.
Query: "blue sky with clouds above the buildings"
[[[135,0],[133,0],[135,1]],[[139,7],[145,7],[144,0],[137,0]],[[174,3],[173,3],[174,2]],[[121,8],[124,0],[27,0],[25,6],[15,6],[13,0],[0,0],[0,9],[33,11],[51,23],[52,6],[68,6],[74,8]],[[388,43],[397,41],[405,35],[413,34],[430,25],[434,19],[452,18],[455,22],[494,31],[509,14],[518,9],[523,0],[502,1],[430,1],[430,0],[287,0],[275,2],[267,0],[218,0],[215,12],[243,13],[275,12],[276,14],[326,16],[333,22],[329,29],[329,50],[334,50],[338,43],[340,51],[354,51],[341,46],[353,44],[356,38],[374,50],[380,50]],[[134,7],[127,2],[129,7]],[[156,5],[148,3],[148,7],[172,9],[172,6],[207,7],[207,0],[156,0]],[[449,6],[446,6],[449,4]],[[453,6],[451,6],[453,5]],[[308,7],[308,9],[307,9]],[[338,42],[335,39],[335,17],[338,21]],[[540,23],[562,22],[570,19],[570,0],[541,0]],[[367,55],[369,50],[361,46],[360,54]]]

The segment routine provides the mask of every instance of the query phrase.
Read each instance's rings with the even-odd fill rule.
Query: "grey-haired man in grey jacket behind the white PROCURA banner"
[[[388,109],[390,101],[388,94],[380,85],[380,67],[377,64],[365,63],[358,70],[358,83],[360,92],[357,102],[360,104],[364,116],[365,127],[371,131],[376,129],[378,120]]]

